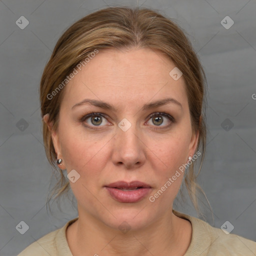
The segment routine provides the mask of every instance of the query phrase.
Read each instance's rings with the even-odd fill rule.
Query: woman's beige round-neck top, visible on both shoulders
[[[184,256],[255,256],[256,242],[238,236],[226,234],[220,228],[212,227],[207,222],[173,210],[173,213],[188,219],[192,225],[192,237]],[[61,228],[52,231],[31,243],[17,256],[72,256],[66,240],[66,228],[78,216],[69,220]]]

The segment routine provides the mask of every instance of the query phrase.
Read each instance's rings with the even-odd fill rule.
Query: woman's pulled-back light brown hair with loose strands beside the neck
[[[60,103],[64,88],[57,88],[66,76],[93,51],[102,49],[129,50],[149,48],[167,56],[185,80],[191,128],[199,132],[196,150],[200,149],[200,166],[197,174],[194,162],[184,174],[184,183],[197,214],[197,194],[203,190],[196,183],[202,166],[206,145],[205,125],[205,73],[185,32],[170,18],[148,8],[107,7],[86,15],[73,23],[58,39],[53,52],[44,67],[40,80],[41,117],[49,113],[52,129],[57,130]],[[58,91],[56,91],[58,89]],[[53,91],[54,96],[49,98]],[[52,93],[53,95],[53,93]],[[48,161],[58,173],[50,199],[67,192],[70,188],[67,178],[56,166],[56,152],[47,124],[43,122],[43,142]],[[204,194],[205,196],[205,194]],[[206,196],[205,196],[206,197]],[[206,198],[207,199],[207,198]],[[47,200],[48,202],[48,200]]]

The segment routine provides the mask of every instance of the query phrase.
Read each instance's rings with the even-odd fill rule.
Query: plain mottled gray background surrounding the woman
[[[62,212],[55,203],[52,215],[46,212],[52,169],[42,145],[38,87],[62,32],[107,5],[158,9],[186,31],[208,82],[207,150],[198,182],[214,223],[205,199],[201,205],[211,225],[228,220],[231,233],[255,241],[255,0],[1,0],[0,255],[18,254],[77,216],[67,199]],[[22,15],[29,21],[24,29],[15,23]],[[234,21],[229,29],[220,23],[227,15]],[[189,201],[174,208],[197,216]],[[21,220],[29,226],[24,234],[15,228]]]

